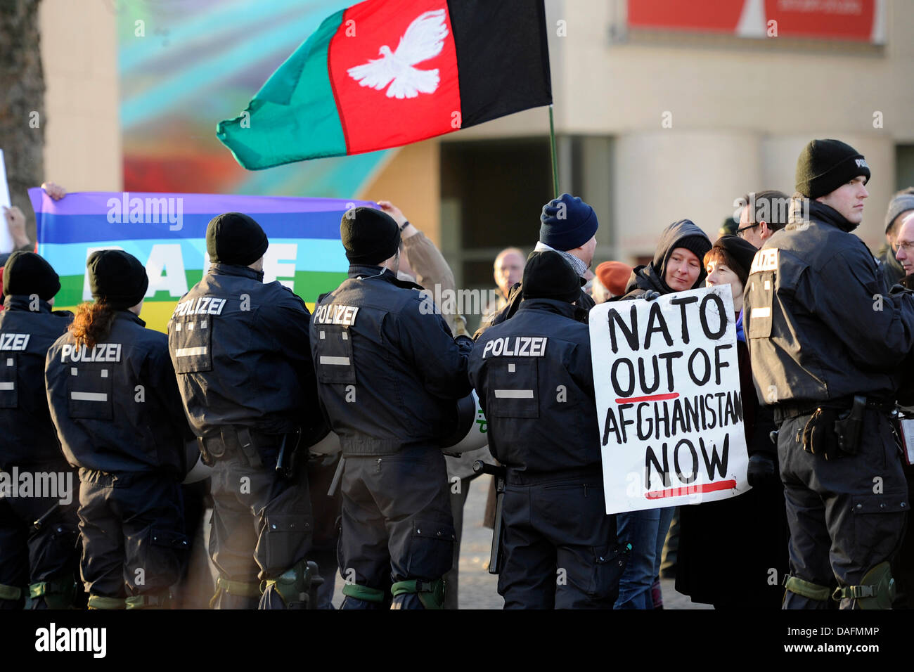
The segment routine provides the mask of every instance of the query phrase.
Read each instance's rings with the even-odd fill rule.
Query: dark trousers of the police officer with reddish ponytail
[[[91,596],[164,596],[189,544],[174,475],[80,469],[80,569]]]

